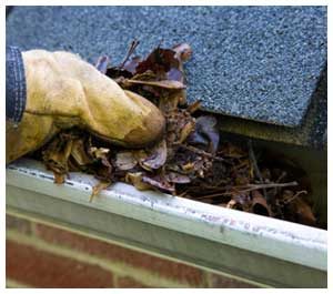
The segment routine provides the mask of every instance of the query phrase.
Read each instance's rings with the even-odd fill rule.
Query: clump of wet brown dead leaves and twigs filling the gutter
[[[81,171],[101,181],[92,196],[122,181],[139,190],[316,225],[305,197],[310,187],[299,184],[303,175],[294,173],[294,166],[259,160],[251,141],[240,146],[220,140],[215,116],[198,114],[200,102],[188,104],[183,62],[192,54],[190,45],[158,47],[145,59],[132,57],[137,45],[133,41],[120,65],[111,67],[109,58],[101,57],[95,67],[159,107],[167,119],[163,140],[149,149],[128,150],[82,130],[64,131],[37,153],[56,182]]]

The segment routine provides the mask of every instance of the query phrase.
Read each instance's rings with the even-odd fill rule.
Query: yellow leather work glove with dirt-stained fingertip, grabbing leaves
[[[44,50],[27,51],[22,57],[27,105],[19,126],[7,130],[7,163],[72,126],[131,148],[162,135],[165,122],[155,105],[123,91],[79,57]]]

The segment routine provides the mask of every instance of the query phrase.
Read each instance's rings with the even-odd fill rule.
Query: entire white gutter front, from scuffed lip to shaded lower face
[[[63,185],[40,162],[7,168],[7,213],[181,261],[259,286],[326,287],[327,232],[115,183],[92,202],[97,180]]]

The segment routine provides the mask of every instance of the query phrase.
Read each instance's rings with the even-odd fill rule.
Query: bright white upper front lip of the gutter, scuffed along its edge
[[[7,185],[78,203],[218,243],[273,256],[321,271],[327,270],[327,232],[282,220],[224,209],[193,200],[115,183],[89,202],[92,175],[70,173],[63,185],[34,160],[7,166]],[[54,189],[57,187],[57,189]]]

